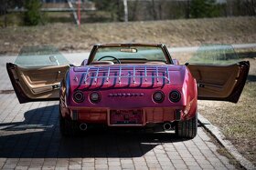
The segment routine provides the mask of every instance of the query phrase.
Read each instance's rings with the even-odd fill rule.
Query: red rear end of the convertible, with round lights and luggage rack
[[[80,125],[168,129],[197,112],[196,82],[184,65],[71,67],[65,82],[62,115]]]

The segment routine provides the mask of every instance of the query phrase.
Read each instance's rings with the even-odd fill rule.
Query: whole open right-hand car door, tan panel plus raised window
[[[197,79],[199,100],[232,103],[239,101],[250,69],[231,45],[202,45],[186,65]]]

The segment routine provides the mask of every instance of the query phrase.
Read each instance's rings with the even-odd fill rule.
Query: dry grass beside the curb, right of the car
[[[237,104],[229,102],[199,101],[198,112],[221,131],[239,152],[256,165],[256,59]]]

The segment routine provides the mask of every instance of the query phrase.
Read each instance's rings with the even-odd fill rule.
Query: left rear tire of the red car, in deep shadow
[[[61,115],[59,109],[59,132],[62,136],[73,136],[79,132],[78,123]]]

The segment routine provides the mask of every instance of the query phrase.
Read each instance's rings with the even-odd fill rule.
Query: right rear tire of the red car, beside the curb
[[[188,120],[176,122],[176,135],[192,139],[197,135],[197,114]]]

